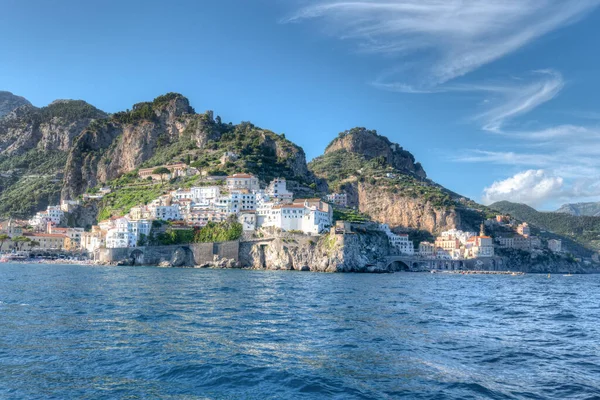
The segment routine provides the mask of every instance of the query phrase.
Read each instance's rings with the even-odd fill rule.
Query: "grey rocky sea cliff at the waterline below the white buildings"
[[[382,232],[283,237],[240,244],[242,268],[315,272],[392,272],[396,265],[379,264],[390,253]]]

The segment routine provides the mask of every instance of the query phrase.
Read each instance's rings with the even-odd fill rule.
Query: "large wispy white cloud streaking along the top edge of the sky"
[[[283,22],[319,20],[364,52],[409,59],[377,87],[429,91],[584,16],[599,0],[313,0]],[[410,56],[410,58],[408,57]]]

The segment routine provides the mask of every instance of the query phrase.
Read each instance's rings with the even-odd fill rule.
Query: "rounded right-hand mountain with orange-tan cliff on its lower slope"
[[[478,231],[485,216],[485,207],[427,179],[410,152],[373,130],[340,133],[309,169],[330,191],[346,193],[350,206],[393,228]]]

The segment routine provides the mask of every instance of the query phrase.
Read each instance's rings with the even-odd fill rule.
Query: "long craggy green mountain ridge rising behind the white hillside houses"
[[[224,162],[226,152],[232,157]],[[177,93],[110,115],[84,101],[57,100],[25,104],[0,119],[0,215],[25,218],[61,198],[132,179],[139,167],[178,161],[215,175],[281,176],[300,191],[317,186],[304,151],[284,135],[198,114]]]

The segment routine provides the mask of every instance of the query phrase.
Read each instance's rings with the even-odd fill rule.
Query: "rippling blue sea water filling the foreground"
[[[0,398],[598,398],[599,289],[0,264]]]

